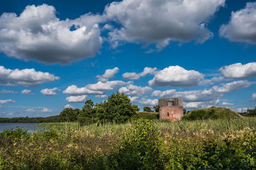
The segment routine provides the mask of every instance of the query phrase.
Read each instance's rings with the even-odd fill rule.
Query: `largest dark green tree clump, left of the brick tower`
[[[112,122],[125,123],[136,115],[136,108],[124,93],[113,93],[106,102],[93,104],[92,100],[86,100],[81,113],[78,116],[80,123]]]

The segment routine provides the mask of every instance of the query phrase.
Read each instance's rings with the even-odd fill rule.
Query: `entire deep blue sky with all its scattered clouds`
[[[51,116],[116,91],[142,109],[256,102],[256,2],[6,1],[0,117]]]

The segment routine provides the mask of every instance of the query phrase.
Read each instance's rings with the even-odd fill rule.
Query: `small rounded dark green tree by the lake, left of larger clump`
[[[77,121],[77,116],[79,115],[80,109],[65,108],[60,112],[60,121]]]

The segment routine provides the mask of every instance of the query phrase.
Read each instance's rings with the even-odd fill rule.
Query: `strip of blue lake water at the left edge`
[[[38,130],[44,130],[45,127],[36,127],[39,123],[0,123],[0,132],[2,132],[4,129],[16,129],[17,127],[23,128],[25,130],[28,130],[28,132],[38,131]]]

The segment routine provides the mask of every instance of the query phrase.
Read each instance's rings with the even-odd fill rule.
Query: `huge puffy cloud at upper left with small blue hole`
[[[54,6],[26,6],[19,16],[1,15],[0,50],[18,59],[63,65],[90,58],[102,44],[98,26],[102,19],[88,13],[74,20],[60,20]]]

